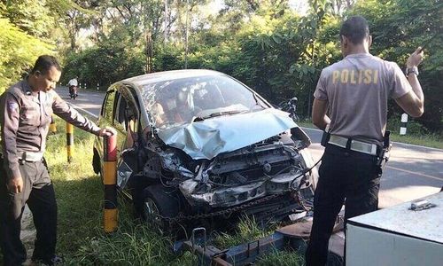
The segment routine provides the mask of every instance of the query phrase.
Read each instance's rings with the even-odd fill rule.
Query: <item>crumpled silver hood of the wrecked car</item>
[[[210,160],[220,153],[253,145],[295,127],[298,126],[289,113],[268,108],[159,129],[158,135],[166,145],[183,150],[194,160]]]

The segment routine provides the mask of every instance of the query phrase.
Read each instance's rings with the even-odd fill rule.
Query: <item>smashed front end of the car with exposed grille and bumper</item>
[[[312,158],[295,147],[274,144],[247,150],[217,157],[203,171],[205,180],[194,178],[180,184],[190,205],[237,206],[272,194],[309,189],[316,181],[315,171],[306,172],[313,166]],[[217,178],[225,180],[224,184],[215,183]],[[202,184],[203,189],[198,189]]]

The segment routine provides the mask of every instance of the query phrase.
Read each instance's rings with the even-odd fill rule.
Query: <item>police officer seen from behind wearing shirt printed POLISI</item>
[[[397,64],[369,54],[372,39],[364,18],[346,20],[340,40],[344,59],[323,69],[314,93],[313,122],[329,134],[323,142],[307,265],[325,265],[330,234],[344,203],[345,222],[377,210],[388,98],[411,116],[424,113],[417,79],[424,56],[420,47],[409,56],[405,77]]]

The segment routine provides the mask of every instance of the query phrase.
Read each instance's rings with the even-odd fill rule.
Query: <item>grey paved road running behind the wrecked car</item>
[[[105,97],[104,92],[80,90],[79,97],[69,99],[66,87],[58,88],[58,94],[67,101],[97,115]],[[305,129],[313,140],[310,146],[314,159],[323,154],[320,145],[322,133],[317,129]],[[394,143],[391,160],[385,167],[380,190],[380,207],[416,200],[439,192],[443,187],[443,150],[416,145]]]

